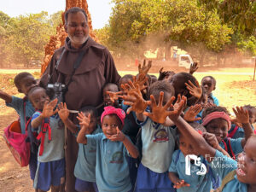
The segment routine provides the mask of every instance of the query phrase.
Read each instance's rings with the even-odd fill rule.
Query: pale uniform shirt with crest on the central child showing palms
[[[139,123],[139,122],[138,122]],[[167,172],[175,147],[176,128],[154,123],[147,118],[142,126],[143,166],[153,172]]]

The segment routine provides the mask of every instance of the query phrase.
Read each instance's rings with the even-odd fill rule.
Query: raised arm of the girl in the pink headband
[[[88,117],[84,115],[84,113],[80,112],[79,116],[77,117],[79,119],[79,125],[81,126],[81,130],[79,131],[78,137],[77,137],[77,143],[83,143],[84,145],[87,144],[87,137],[86,135],[90,134],[90,131],[87,130],[88,126],[90,125],[90,113]]]

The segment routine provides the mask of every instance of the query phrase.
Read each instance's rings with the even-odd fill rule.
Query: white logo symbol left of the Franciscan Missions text
[[[185,174],[191,175],[191,162],[190,160],[195,160],[195,166],[200,166],[200,171],[196,172],[196,175],[205,175],[207,173],[207,166],[201,162],[201,158],[195,154],[188,154],[185,157],[186,167]]]

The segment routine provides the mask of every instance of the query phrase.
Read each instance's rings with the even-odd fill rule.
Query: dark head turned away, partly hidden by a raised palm
[[[169,80],[169,82],[172,84],[175,90],[175,96],[177,97],[178,94],[181,96],[186,96],[188,98],[188,106],[191,106],[195,103],[189,103],[189,98],[191,95],[189,94],[189,90],[187,90],[186,84],[189,83],[189,80],[192,82],[192,84],[195,84],[195,77],[191,75],[190,73],[176,73],[172,76],[172,79]]]

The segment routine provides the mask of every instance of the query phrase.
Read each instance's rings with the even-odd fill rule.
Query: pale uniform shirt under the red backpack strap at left
[[[40,115],[36,112],[32,115],[32,120]],[[64,158],[64,126],[61,125],[61,119],[58,115],[49,117],[49,126],[51,128],[51,140],[49,141],[49,131],[45,133],[44,137],[44,152],[39,156],[40,148],[38,148],[38,161],[49,162],[54,160],[61,160]],[[41,125],[38,126],[38,133],[41,131]]]

